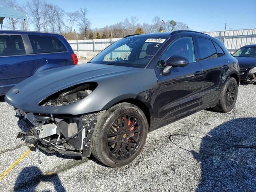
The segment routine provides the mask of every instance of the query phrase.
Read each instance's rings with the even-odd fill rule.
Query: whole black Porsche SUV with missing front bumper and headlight
[[[149,131],[212,107],[234,108],[239,66],[222,42],[175,31],[127,36],[87,64],[47,70],[5,100],[25,116],[18,137],[46,152],[92,154],[118,167],[141,152]]]

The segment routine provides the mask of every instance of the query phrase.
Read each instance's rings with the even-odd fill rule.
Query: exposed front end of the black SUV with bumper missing
[[[101,112],[81,116],[33,114],[16,110],[16,117],[24,118],[26,132],[17,138],[34,144],[48,153],[58,152],[68,156],[89,157],[91,138]]]

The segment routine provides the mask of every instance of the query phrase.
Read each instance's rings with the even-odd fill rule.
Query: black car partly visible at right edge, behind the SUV
[[[256,44],[241,47],[233,56],[240,66],[241,81],[256,82]]]

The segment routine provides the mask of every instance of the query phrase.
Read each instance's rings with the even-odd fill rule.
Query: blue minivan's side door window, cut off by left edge
[[[26,54],[20,35],[0,35],[0,56]]]

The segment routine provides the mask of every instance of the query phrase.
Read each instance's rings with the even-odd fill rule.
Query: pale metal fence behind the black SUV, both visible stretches
[[[228,30],[204,32],[210,36],[224,40],[224,45],[230,53],[234,53],[237,49],[244,45],[256,44],[256,29]],[[99,52],[108,45],[120,40],[121,38],[109,39],[93,39],[93,40],[69,40],[74,51],[78,51],[81,57],[86,57],[88,52]]]

